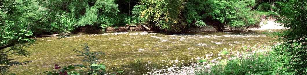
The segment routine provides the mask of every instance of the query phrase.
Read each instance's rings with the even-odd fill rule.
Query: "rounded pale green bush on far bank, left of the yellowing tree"
[[[85,16],[80,19],[77,26],[95,25],[99,22],[98,20],[101,24],[104,24],[102,27],[115,25],[115,22],[119,22],[116,18],[113,18],[119,12],[117,6],[114,4],[114,0],[97,0],[94,6],[90,9],[87,8]],[[102,10],[102,12],[99,12],[99,10]],[[101,14],[99,18],[98,14]]]

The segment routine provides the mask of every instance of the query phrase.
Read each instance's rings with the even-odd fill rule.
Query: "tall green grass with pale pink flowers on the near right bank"
[[[244,49],[245,50],[245,49]],[[197,70],[196,75],[276,75],[282,69],[280,57],[270,50],[246,49],[229,59],[219,59],[210,68]]]

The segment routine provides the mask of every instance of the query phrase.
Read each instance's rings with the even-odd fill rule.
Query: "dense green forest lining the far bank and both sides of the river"
[[[258,27],[262,16],[271,16],[289,29],[274,34],[281,44],[273,47],[272,55],[281,58],[274,61],[282,69],[276,70],[274,66],[265,69],[270,69],[267,72],[271,74],[302,75],[307,74],[306,14],[306,0],[0,0],[0,73],[5,74],[15,65],[31,63],[31,60],[15,61],[10,55],[31,55],[24,48],[35,45],[34,38],[41,35],[60,34],[64,38],[67,33],[84,29],[104,32],[119,27],[170,33],[214,27],[224,32]],[[76,52],[93,61],[91,69],[101,69],[90,70],[88,74],[104,73],[102,68],[106,66],[94,62],[100,53],[89,52],[87,45],[85,52]],[[65,75],[62,71],[72,67],[51,74]],[[220,70],[212,70],[212,75],[213,71]],[[227,75],[243,74],[223,71]]]

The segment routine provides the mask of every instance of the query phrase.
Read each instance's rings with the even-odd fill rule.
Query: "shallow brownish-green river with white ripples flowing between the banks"
[[[216,56],[224,48],[241,50],[243,45],[272,45],[276,38],[258,30],[247,32],[216,32],[167,34],[151,32],[126,32],[104,34],[73,34],[70,37],[38,37],[34,46],[26,48],[29,57],[13,56],[17,61],[29,61],[24,66],[11,67],[10,73],[35,75],[51,70],[54,64],[68,66],[85,64],[73,49],[82,50],[87,43],[93,52],[101,51],[99,62],[106,65],[108,73],[146,74],[165,66],[189,65],[210,54]],[[174,60],[176,60],[174,62]],[[178,61],[177,61],[178,60]]]

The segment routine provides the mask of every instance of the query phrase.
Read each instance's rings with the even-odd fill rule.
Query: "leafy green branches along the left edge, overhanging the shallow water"
[[[30,14],[30,1],[1,0],[0,1],[0,73],[6,72],[13,65],[23,65],[30,61],[18,62],[10,55],[28,56],[24,48],[33,44],[31,27],[41,21]],[[29,43],[26,43],[29,42]]]

